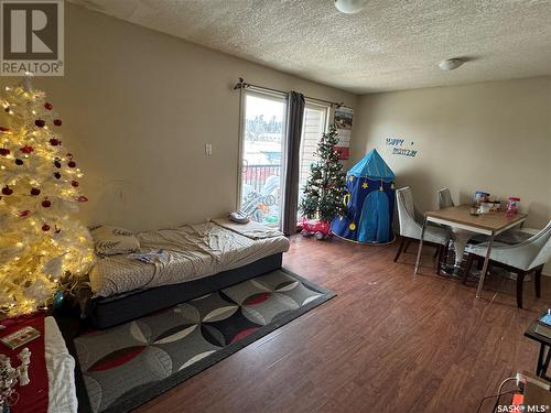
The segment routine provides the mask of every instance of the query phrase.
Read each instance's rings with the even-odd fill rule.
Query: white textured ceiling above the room
[[[358,94],[551,74],[551,0],[73,2]],[[469,62],[441,72],[450,57]]]

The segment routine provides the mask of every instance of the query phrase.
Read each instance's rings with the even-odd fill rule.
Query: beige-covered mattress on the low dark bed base
[[[137,235],[140,252],[162,249],[151,262],[131,254],[99,260],[90,272],[96,297],[209,276],[289,250],[280,231],[257,222],[235,225],[226,219]]]

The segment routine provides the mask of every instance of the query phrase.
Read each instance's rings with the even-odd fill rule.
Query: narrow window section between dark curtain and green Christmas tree
[[[316,162],[314,152],[322,134],[327,130],[329,107],[306,101],[304,108],[304,120],[302,122],[300,172],[299,172],[299,205],[301,204],[302,191],[310,176],[310,165]],[[300,210],[298,220],[302,217]]]

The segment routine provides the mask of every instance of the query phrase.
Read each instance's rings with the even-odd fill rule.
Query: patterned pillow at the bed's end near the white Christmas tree
[[[140,249],[140,241],[128,229],[99,226],[91,228],[90,232],[96,252],[102,256],[130,253]]]

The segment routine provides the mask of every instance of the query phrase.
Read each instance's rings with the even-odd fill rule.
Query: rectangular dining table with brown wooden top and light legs
[[[486,276],[486,272],[488,271],[489,257],[495,238],[508,229],[521,225],[526,220],[527,215],[520,213],[508,215],[505,210],[474,215],[472,214],[472,205],[457,205],[424,213],[421,239],[419,241],[419,249],[417,253],[415,270],[413,273],[417,274],[419,271],[424,232],[428,225],[436,224],[487,236],[488,248],[486,250],[486,257],[484,259],[480,278],[478,280],[478,287],[476,289],[476,297],[479,298],[482,297],[484,279]]]

